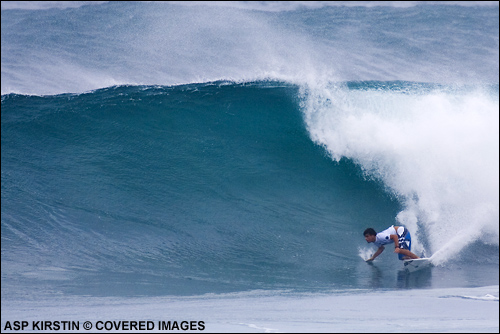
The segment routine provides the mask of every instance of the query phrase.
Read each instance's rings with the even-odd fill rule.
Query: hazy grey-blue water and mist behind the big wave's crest
[[[2,94],[267,78],[498,82],[495,6],[109,2],[2,9],[2,27]]]

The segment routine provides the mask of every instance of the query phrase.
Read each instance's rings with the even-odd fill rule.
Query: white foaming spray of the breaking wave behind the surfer
[[[402,200],[396,220],[416,232],[416,252],[426,239],[440,264],[477,240],[498,245],[498,96],[335,85],[303,94],[311,138]]]

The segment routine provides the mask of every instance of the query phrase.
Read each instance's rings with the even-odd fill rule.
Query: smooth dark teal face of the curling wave
[[[311,268],[357,262],[365,222],[391,221],[399,204],[311,142],[297,93],[259,83],[6,96],[2,261],[24,276],[62,268],[68,280],[149,275],[191,289],[294,286]]]

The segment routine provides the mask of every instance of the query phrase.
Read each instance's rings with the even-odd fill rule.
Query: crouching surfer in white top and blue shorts
[[[384,251],[384,245],[390,244],[392,242],[395,246],[394,253],[398,253],[398,257],[400,260],[419,258],[411,252],[410,231],[408,231],[408,229],[404,226],[392,225],[388,229],[379,233],[375,232],[373,228],[367,228],[363,232],[363,235],[365,236],[366,242],[373,242],[375,246],[378,247],[375,254],[373,254],[371,258],[366,260],[367,262],[373,261],[377,256],[382,254],[382,252]]]

